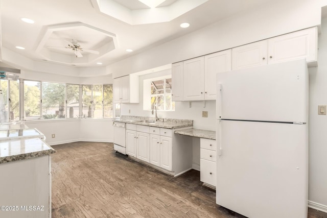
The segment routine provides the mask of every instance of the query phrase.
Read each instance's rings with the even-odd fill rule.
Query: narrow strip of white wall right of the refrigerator
[[[327,105],[327,18],[318,37],[318,67],[309,68],[309,200],[327,212],[327,116],[318,115],[318,105]]]

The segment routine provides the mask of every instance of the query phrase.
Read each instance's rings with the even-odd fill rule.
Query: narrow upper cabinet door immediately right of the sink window
[[[172,64],[172,101],[183,101],[183,62]]]

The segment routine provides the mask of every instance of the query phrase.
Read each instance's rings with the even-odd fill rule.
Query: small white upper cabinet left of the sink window
[[[113,79],[114,103],[138,103],[138,76],[127,75]]]

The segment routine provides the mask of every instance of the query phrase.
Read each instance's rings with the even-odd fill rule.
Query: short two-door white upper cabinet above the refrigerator
[[[309,28],[232,49],[232,69],[306,58],[317,65],[317,28]]]

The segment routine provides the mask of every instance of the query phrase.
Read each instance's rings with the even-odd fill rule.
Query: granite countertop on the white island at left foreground
[[[0,141],[0,163],[50,155],[56,151],[40,138]]]

